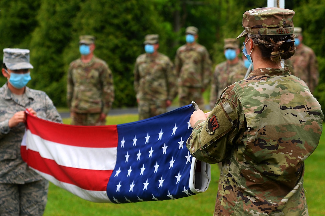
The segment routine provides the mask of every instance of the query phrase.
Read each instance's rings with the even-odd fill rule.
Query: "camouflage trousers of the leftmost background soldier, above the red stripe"
[[[100,113],[70,113],[71,125],[100,126],[106,124],[106,119],[99,121]]]

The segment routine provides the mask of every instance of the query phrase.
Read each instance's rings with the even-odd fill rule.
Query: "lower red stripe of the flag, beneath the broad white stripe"
[[[21,149],[24,149],[21,146]],[[25,148],[26,151],[26,148]],[[33,150],[27,150],[28,165],[42,173],[52,175],[60,182],[69,183],[85,190],[106,191],[112,170],[86,170],[58,165],[55,161],[42,158]],[[82,159],[80,159],[82,160]]]

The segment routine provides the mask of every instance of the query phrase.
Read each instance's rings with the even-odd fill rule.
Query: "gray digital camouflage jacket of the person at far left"
[[[62,119],[51,99],[43,91],[26,87],[22,99],[8,89],[0,88],[0,183],[24,184],[43,179],[27,167],[20,156],[20,144],[25,133],[25,124],[9,128],[9,119],[18,111],[31,107],[37,117],[62,123]]]

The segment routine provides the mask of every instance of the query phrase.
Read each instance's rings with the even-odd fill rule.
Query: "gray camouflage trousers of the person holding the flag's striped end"
[[[0,215],[43,215],[48,181],[24,185],[0,183]]]

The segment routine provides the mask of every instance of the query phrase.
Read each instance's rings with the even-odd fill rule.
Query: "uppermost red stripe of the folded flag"
[[[27,114],[27,129],[45,140],[56,143],[91,147],[117,147],[117,126],[74,126],[46,121]]]

